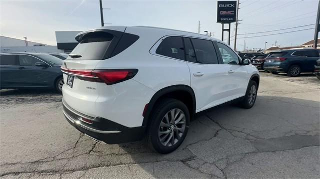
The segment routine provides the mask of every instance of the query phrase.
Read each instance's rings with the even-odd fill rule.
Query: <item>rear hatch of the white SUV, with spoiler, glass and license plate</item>
[[[84,31],[76,35],[75,39],[79,43],[61,66],[65,82],[62,90],[63,99],[70,107],[91,115],[85,111],[94,110],[99,86],[104,83],[110,85],[114,80],[123,80],[132,75],[133,72],[130,71],[114,72],[107,71],[108,69],[103,71],[95,69],[102,60],[108,60],[127,48],[128,41],[132,44],[137,40],[138,36],[126,34],[124,31],[125,26],[111,26]],[[128,40],[127,36],[131,38]]]

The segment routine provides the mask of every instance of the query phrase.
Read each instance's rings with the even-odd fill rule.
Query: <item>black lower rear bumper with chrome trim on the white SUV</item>
[[[90,117],[75,111],[62,99],[65,119],[75,129],[101,144],[119,144],[141,140],[145,134],[145,126],[125,127],[108,119]],[[92,124],[81,119],[88,119]]]

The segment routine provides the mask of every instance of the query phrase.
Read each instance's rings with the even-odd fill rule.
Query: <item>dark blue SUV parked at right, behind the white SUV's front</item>
[[[280,72],[298,76],[301,72],[313,72],[319,49],[296,49],[270,52],[264,60],[264,69],[273,74]]]

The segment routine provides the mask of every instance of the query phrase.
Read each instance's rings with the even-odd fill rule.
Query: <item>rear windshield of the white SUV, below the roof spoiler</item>
[[[74,60],[101,60],[112,41],[113,35],[106,32],[90,32],[76,45],[70,54],[80,55]]]

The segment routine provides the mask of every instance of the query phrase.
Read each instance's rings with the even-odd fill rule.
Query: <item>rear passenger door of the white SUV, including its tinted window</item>
[[[196,111],[221,104],[226,95],[227,68],[219,66],[212,41],[187,37],[183,37],[183,41]]]

